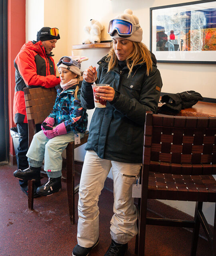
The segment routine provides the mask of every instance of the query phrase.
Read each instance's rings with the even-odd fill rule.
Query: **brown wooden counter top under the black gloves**
[[[158,109],[162,106],[158,104]],[[216,103],[198,101],[192,108],[184,108],[178,114],[160,113],[173,116],[216,116]]]

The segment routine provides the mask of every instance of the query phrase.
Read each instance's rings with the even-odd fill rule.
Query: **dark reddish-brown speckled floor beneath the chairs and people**
[[[28,210],[27,196],[13,176],[16,166],[0,166],[0,256],[71,256],[76,245],[76,224],[68,217],[66,186],[48,197],[34,200]],[[42,180],[45,182],[46,180]],[[76,206],[78,195],[76,194]],[[89,256],[103,256],[110,244],[113,195],[102,190],[99,200],[100,240]],[[155,216],[148,212],[148,216]],[[145,256],[189,256],[192,233],[181,228],[148,226]],[[126,256],[135,256],[133,238]],[[196,256],[210,256],[208,243],[199,238]]]

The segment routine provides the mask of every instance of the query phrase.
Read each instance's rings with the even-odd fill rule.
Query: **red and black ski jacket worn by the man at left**
[[[51,54],[46,55],[41,41],[24,44],[14,60],[15,92],[14,123],[27,123],[26,105],[23,89],[45,87],[51,88],[60,84]]]

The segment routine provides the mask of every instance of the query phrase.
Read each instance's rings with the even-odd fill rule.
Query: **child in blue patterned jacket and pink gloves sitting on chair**
[[[61,190],[62,151],[69,142],[74,141],[74,136],[79,141],[87,128],[88,114],[80,104],[79,81],[80,62],[88,58],[72,58],[64,56],[57,64],[63,90],[57,90],[52,112],[42,123],[42,130],[32,139],[26,154],[29,168],[14,172],[14,176],[21,180],[40,180],[44,160],[44,170],[49,180],[37,188],[37,193],[43,196]]]

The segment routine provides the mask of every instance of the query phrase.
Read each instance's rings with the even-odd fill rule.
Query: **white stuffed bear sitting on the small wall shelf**
[[[104,25],[100,24],[98,20],[90,20],[90,26],[85,26],[84,30],[88,33],[88,38],[83,41],[83,44],[97,44],[100,43],[101,31]]]

